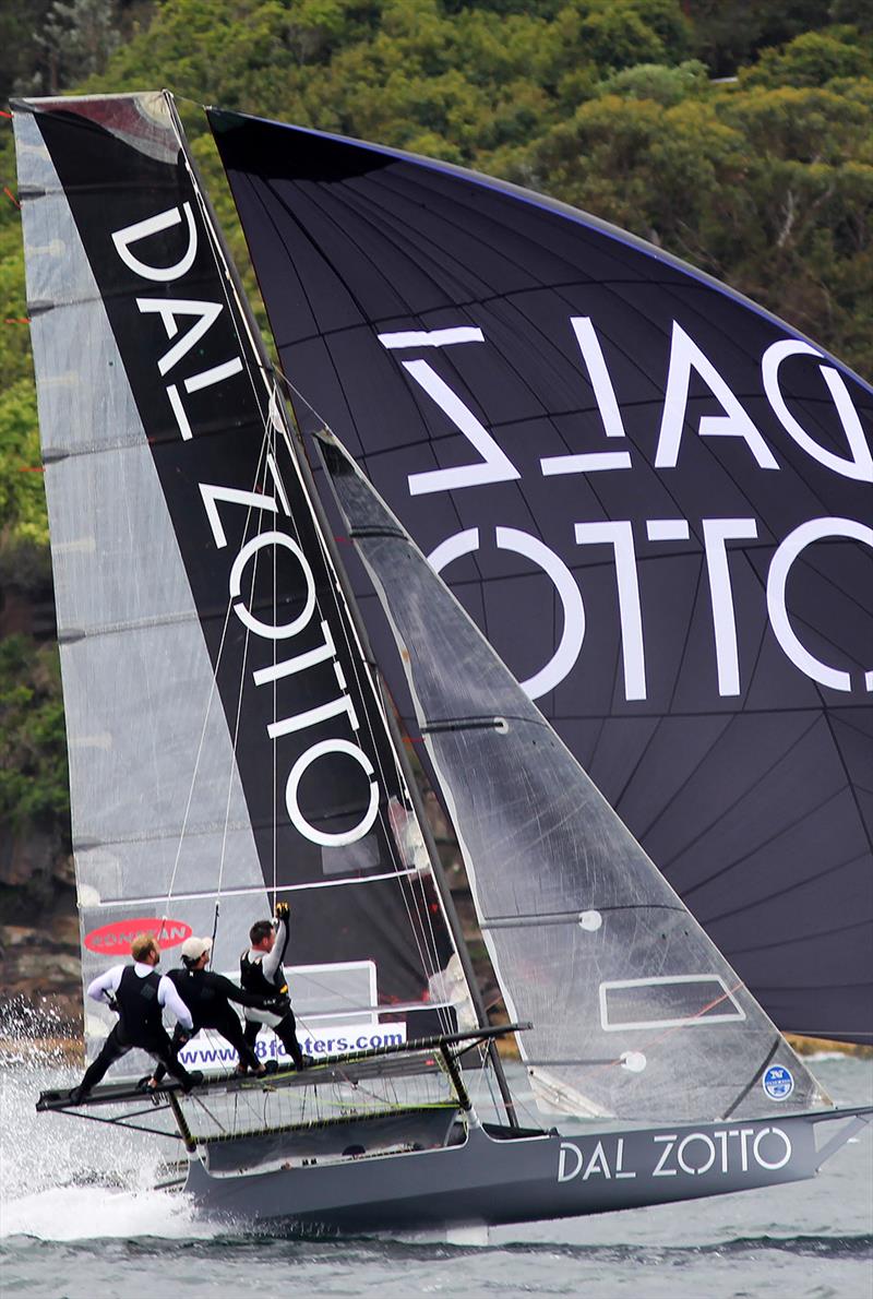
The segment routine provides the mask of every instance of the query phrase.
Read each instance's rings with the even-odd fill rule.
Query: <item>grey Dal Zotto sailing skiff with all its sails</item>
[[[14,109],[83,978],[149,927],[170,953],[191,933],[213,934],[217,968],[233,970],[252,921],[288,900],[292,996],[305,1050],[317,1057],[296,1074],[264,1040],[261,1050],[279,1055],[278,1072],[240,1081],[220,1043],[196,1039],[186,1063],[205,1068],[208,1079],[190,1096],[170,1085],[152,1103],[123,1081],[95,1089],[79,1107],[45,1092],[39,1108],[173,1137],[187,1152],[184,1185],[210,1207],[352,1230],[560,1217],[812,1177],[873,1111],[833,1105],[750,979],[617,814],[620,800],[604,798],[550,725],[550,707],[534,704],[566,688],[585,605],[547,544],[548,529],[527,530],[537,512],[522,518],[513,508],[500,518],[487,492],[520,481],[530,488],[518,466],[534,455],[540,478],[560,479],[556,526],[569,479],[579,491],[574,544],[612,548],[620,635],[599,638],[605,669],[581,687],[581,713],[599,691],[611,700],[588,717],[599,714],[603,740],[594,765],[608,757],[627,787],[640,764],[647,773],[652,761],[673,765],[666,801],[687,785],[713,825],[717,805],[743,805],[753,846],[733,842],[728,851],[761,868],[769,839],[778,887],[764,868],[764,882],[750,870],[751,900],[731,917],[757,907],[760,920],[768,890],[791,892],[786,861],[815,825],[813,851],[824,833],[825,856],[817,874],[804,859],[794,887],[808,902],[821,879],[831,891],[841,881],[863,925],[870,761],[863,737],[873,679],[864,674],[873,590],[864,585],[864,548],[873,533],[860,500],[873,479],[861,427],[869,390],[787,326],[670,259],[655,257],[642,305],[629,307],[640,299],[640,274],[618,253],[609,261],[604,242],[650,262],[652,251],[578,213],[540,209],[531,196],[457,169],[214,110],[286,379],[264,351],[169,95]],[[553,238],[531,268],[525,253],[543,212]],[[451,249],[448,261],[436,257],[438,243]],[[403,259],[398,278],[386,248]],[[574,270],[582,252],[588,270]],[[501,275],[514,281],[492,294],[488,279]],[[707,294],[721,294],[759,331],[750,325],[764,349],[768,420],[790,444],[782,464],[761,401],[744,390],[740,400],[704,355]],[[644,462],[660,495],[629,518],[612,485],[618,478],[625,491],[622,473],[634,477],[631,466],[643,464],[646,434],[633,408],[651,404],[652,392],[640,362],[635,396],[616,397],[612,346],[604,351],[598,333],[598,303],[609,296],[621,327],[655,321],[669,352],[657,446]],[[557,347],[556,301],[566,327]],[[533,333],[520,330],[522,318]],[[618,340],[627,379],[634,339]],[[442,368],[447,349],[464,360]],[[540,429],[533,443],[524,412],[540,395],[525,352],[537,383],[564,401],[563,410],[540,409],[551,433]],[[386,357],[396,373],[383,383]],[[795,385],[792,366],[811,357],[818,387],[807,370]],[[514,412],[488,427],[474,410],[487,401],[470,396],[479,370]],[[392,400],[398,377],[430,401],[409,420],[408,394],[405,405]],[[576,381],[591,395],[600,435],[614,439],[607,451],[574,449],[570,416],[585,407],[568,395]],[[288,383],[303,394],[299,423],[286,405]],[[323,420],[314,410],[326,392],[342,400],[331,397]],[[434,409],[452,421],[449,436],[431,427]],[[800,426],[800,409],[815,417],[815,436]],[[582,425],[590,438],[591,418]],[[474,448],[474,462],[459,461],[457,436]],[[369,457],[370,477],[347,446]],[[798,522],[794,496],[782,486],[766,492],[760,479],[782,473],[778,482],[794,491],[803,457],[821,482],[803,479],[815,517]],[[420,538],[430,561],[403,511],[373,485],[385,483],[387,498],[398,477],[407,504],[434,504]],[[631,496],[638,486],[634,477]],[[703,522],[690,513],[694,492]],[[477,500],[481,522],[496,525],[498,547],[538,564],[560,596],[557,650],[533,685],[518,683],[438,573],[478,562]],[[760,531],[743,513],[748,500]],[[579,517],[591,501],[596,511]],[[646,639],[634,551],[643,534],[674,560],[655,587],[663,616]],[[696,555],[685,548],[692,535],[704,543]],[[760,566],[764,547],[750,544],[759,586],[746,570],[731,586],[728,543],[752,540],[766,542],[769,570]],[[805,552],[820,542],[825,553],[816,551],[813,568]],[[704,555],[711,642],[715,630],[705,669],[698,605],[683,605],[670,587],[691,557],[699,590]],[[807,568],[816,581],[799,596]],[[485,621],[494,608],[488,581]],[[509,583],[513,601],[522,586]],[[816,607],[825,590],[822,639]],[[539,595],[527,611],[517,603],[511,621],[522,640],[544,608]],[[553,608],[548,620],[557,626]],[[744,633],[750,620],[757,651],[747,686],[738,627]],[[676,643],[676,626],[691,668],[666,691],[669,707],[634,712],[650,688],[665,688],[647,681],[661,661],[659,643]],[[786,686],[787,672],[796,679]],[[521,1122],[383,673],[451,814],[537,1103],[583,1118],[583,1135]],[[704,707],[708,681],[717,695]],[[857,681],[867,691],[860,700],[851,695]],[[556,721],[565,705],[553,709]],[[685,757],[659,747],[663,711],[681,722],[672,743],[678,737],[679,750],[691,751]],[[590,747],[585,726],[579,735]],[[752,808],[735,792],[735,770],[743,761],[755,768],[761,747],[769,776]],[[842,785],[831,788],[834,766]],[[798,773],[822,783],[809,822],[785,820],[785,783],[796,803]],[[682,853],[668,848],[668,856],[679,874],[696,860],[694,887],[720,878],[730,892],[738,877],[711,844],[689,833]],[[842,865],[831,866],[830,851]],[[735,944],[733,918],[728,931]],[[842,957],[851,961],[856,935],[851,925],[846,933]],[[766,964],[761,973],[772,978]],[[779,990],[769,992],[778,1004]],[[796,1005],[794,991],[787,1000]],[[835,1024],[834,1035],[860,1031],[859,1007],[847,998],[852,1024]],[[90,1051],[108,1026],[109,1013],[87,1004]],[[494,1089],[505,1117],[478,1117],[472,1079]]]

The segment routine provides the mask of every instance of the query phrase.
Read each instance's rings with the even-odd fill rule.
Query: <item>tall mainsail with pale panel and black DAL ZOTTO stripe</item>
[[[453,1026],[420,826],[171,104],[38,101],[16,132],[83,977],[143,929],[216,927],[233,970],[282,898],[304,1030]]]

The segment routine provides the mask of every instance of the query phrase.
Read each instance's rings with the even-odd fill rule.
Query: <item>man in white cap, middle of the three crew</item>
[[[270,1008],[275,1011],[278,1008],[283,1012],[283,999],[275,989],[273,989],[269,996],[261,996],[259,992],[246,992],[243,989],[236,987],[235,983],[231,983],[229,978],[225,978],[223,974],[208,970],[207,964],[210,952],[210,938],[186,938],[182,943],[182,969],[170,970],[166,976],[173,981],[177,992],[191,1011],[194,1029],[190,1037],[194,1037],[200,1029],[216,1029],[217,1033],[221,1033],[222,1038],[230,1042],[239,1056],[236,1073],[244,1074],[251,1069],[252,1073],[261,1077],[270,1070],[266,1065],[261,1064],[243,1037],[243,1026],[239,1022],[239,1016],[231,1009],[230,1003],[236,1002],[239,1005],[257,1011]],[[273,1064],[273,1069],[275,1070],[275,1063],[270,1061],[270,1064]],[[158,1064],[151,1085],[157,1086],[164,1073],[164,1065]]]

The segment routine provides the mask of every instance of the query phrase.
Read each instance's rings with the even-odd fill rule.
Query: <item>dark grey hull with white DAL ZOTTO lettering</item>
[[[699,1199],[813,1177],[873,1111],[563,1137],[474,1128],[443,1150],[210,1176],[187,1190],[209,1211],[346,1231],[527,1222]]]

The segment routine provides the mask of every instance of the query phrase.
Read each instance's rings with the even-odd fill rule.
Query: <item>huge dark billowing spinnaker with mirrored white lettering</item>
[[[869,385],[539,195],[210,122],[303,426],[365,466],[773,1020],[869,1040]]]

